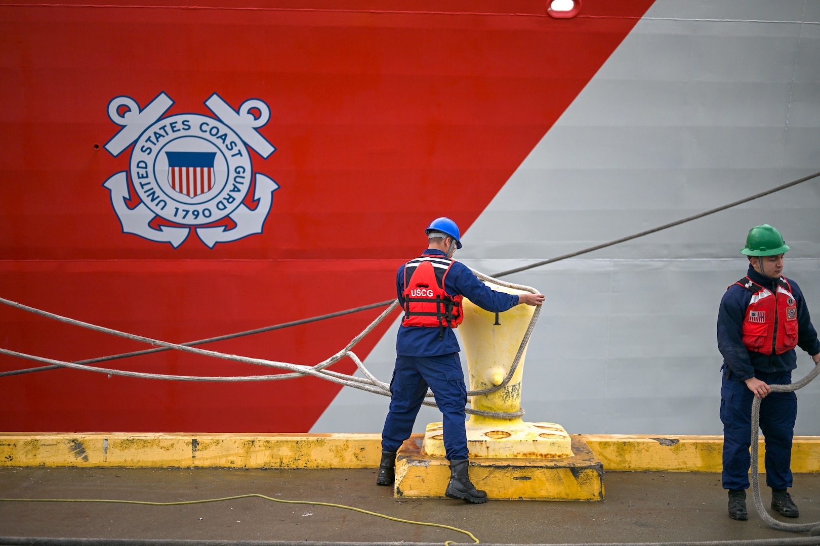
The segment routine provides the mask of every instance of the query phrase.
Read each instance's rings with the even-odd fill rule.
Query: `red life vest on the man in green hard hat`
[[[797,346],[797,303],[785,277],[777,279],[775,292],[748,277],[735,284],[752,293],[743,319],[743,345],[762,354],[783,354]]]

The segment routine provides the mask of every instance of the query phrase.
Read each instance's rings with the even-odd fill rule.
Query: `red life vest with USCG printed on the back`
[[[403,326],[439,327],[439,339],[444,339],[444,327],[455,328],[462,323],[464,296],[450,296],[444,290],[454,259],[445,256],[422,255],[404,264]]]

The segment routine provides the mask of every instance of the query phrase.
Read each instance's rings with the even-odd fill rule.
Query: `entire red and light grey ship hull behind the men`
[[[423,248],[436,216],[462,227],[456,257],[492,274],[820,168],[816,8],[591,4],[569,20],[530,2],[0,7],[0,296],[192,341],[389,300],[395,269]],[[151,124],[158,136],[142,128],[122,147],[115,121],[127,108],[112,111],[112,102],[128,97],[149,111],[162,93],[172,105]],[[217,119],[214,95],[240,113],[261,101],[266,124],[248,129],[255,121],[231,122],[225,111]],[[173,116],[191,133],[176,136]],[[198,138],[219,150],[228,129],[244,141],[230,152],[244,150],[250,166],[242,198],[229,203],[242,165],[225,152],[234,178],[213,202],[244,216],[204,223],[217,205],[171,192],[159,163],[151,174],[166,201],[190,202],[203,218],[182,218],[185,207],[172,214],[170,201],[157,208],[141,186],[142,148],[155,147],[156,158],[175,146],[164,138]],[[185,151],[199,149],[190,142]],[[120,173],[127,193],[107,182]],[[267,178],[276,188],[266,193]],[[140,204],[156,214],[137,226]],[[818,205],[809,182],[509,277],[547,295],[527,356],[528,420],[584,433],[719,433],[714,322],[722,291],[745,273],[737,249],[752,225],[780,228],[792,248],[785,273],[811,308],[820,301]],[[178,245],[161,240],[183,232]],[[206,348],[313,365],[380,310]],[[384,381],[395,321],[356,348]],[[4,348],[52,359],[146,346],[16,309],[0,309],[0,323]],[[808,368],[800,362],[798,374]],[[0,365],[37,364],[3,356]],[[270,372],[175,351],[107,365]],[[201,383],[64,369],[0,385],[7,431],[378,432],[387,405],[316,378]],[[799,434],[820,433],[810,399],[801,399]],[[439,420],[423,410],[417,426]]]

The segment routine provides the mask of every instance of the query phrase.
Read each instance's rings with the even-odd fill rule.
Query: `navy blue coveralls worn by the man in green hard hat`
[[[775,279],[758,273],[751,266],[746,275],[759,286],[775,291]],[[803,292],[796,282],[786,280],[797,302],[797,345],[809,354],[818,354],[820,341],[809,318]],[[723,295],[717,313],[717,348],[723,355],[720,418],[723,422],[723,489],[726,490],[749,488],[754,393],[744,381],[757,377],[769,385],[788,385],[791,370],[797,368],[794,349],[766,355],[749,351],[743,345],[743,321],[751,299],[750,291],[732,285]],[[794,392],[771,392],[760,403],[760,429],[766,439],[766,485],[773,490],[791,487],[791,440],[796,417]]]

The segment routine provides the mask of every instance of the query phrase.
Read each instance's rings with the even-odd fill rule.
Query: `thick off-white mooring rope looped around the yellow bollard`
[[[499,279],[494,279],[484,275],[476,271],[475,269],[471,269],[473,273],[476,273],[476,277],[481,278],[481,280],[487,282],[493,282],[498,284],[499,286],[514,288],[522,291],[529,291],[531,293],[538,293],[535,288],[532,287],[525,287],[523,285],[512,284],[509,282],[503,282]],[[286,370],[289,373],[277,373],[271,375],[251,375],[251,376],[185,376],[185,375],[170,375],[170,374],[162,374],[162,373],[148,373],[148,372],[130,372],[127,370],[119,370],[115,368],[100,368],[97,366],[88,366],[85,364],[78,364],[72,362],[66,362],[63,360],[56,360],[56,359],[47,359],[45,357],[35,356],[33,354],[25,354],[20,353],[13,350],[7,350],[0,348],[0,354],[7,354],[10,356],[15,356],[21,359],[29,359],[34,360],[40,363],[48,363],[57,366],[62,366],[65,368],[73,368],[77,370],[84,370],[87,372],[98,372],[98,373],[106,373],[107,375],[116,375],[121,377],[137,377],[141,379],[160,379],[160,380],[167,380],[167,381],[223,381],[223,382],[237,382],[237,381],[281,381],[285,379],[294,379],[296,377],[304,377],[304,376],[311,376],[311,377],[318,377],[320,379],[324,379],[326,381],[333,382],[337,385],[341,386],[350,386],[354,389],[358,390],[365,390],[367,392],[371,392],[377,395],[383,396],[390,396],[389,391],[389,384],[385,383],[384,381],[380,381],[376,378],[362,363],[362,360],[358,358],[358,355],[353,353],[352,349],[354,346],[358,344],[359,341],[362,341],[365,336],[370,334],[373,329],[379,325],[385,318],[389,316],[390,313],[393,312],[396,307],[399,305],[399,301],[396,300],[393,304],[389,305],[387,309],[385,309],[373,322],[371,322],[358,336],[355,336],[353,340],[351,340],[348,345],[344,347],[343,350],[340,350],[338,353],[331,356],[329,359],[323,360],[320,363],[317,363],[314,366],[304,366],[301,364],[294,364],[294,363],[285,363],[279,362],[276,360],[267,360],[267,359],[252,359],[245,356],[240,356],[238,354],[225,354],[218,351],[212,350],[205,350],[205,349],[198,349],[197,347],[191,347],[188,345],[179,345],[175,343],[170,343],[168,341],[161,341],[157,339],[153,339],[146,336],[138,336],[136,334],[130,334],[128,332],[121,332],[119,330],[115,330],[113,328],[107,328],[103,326],[98,326],[96,324],[85,323],[80,320],[76,320],[74,318],[63,317],[62,315],[49,313],[48,311],[43,311],[42,309],[36,309],[34,307],[30,307],[29,305],[23,305],[17,303],[16,301],[7,300],[5,298],[0,298],[0,303],[9,305],[16,309],[21,309],[23,311],[27,311],[29,313],[38,314],[40,316],[46,318],[52,318],[54,320],[60,321],[62,323],[71,324],[73,326],[84,327],[89,330],[93,330],[94,332],[102,332],[112,336],[123,337],[125,339],[130,339],[133,341],[140,341],[143,343],[148,343],[154,346],[161,346],[166,347],[167,349],[173,350],[181,350],[188,353],[193,354],[200,354],[202,356],[209,356],[212,358],[217,359],[225,359],[230,360],[233,362],[241,362],[241,363],[248,363],[257,366],[264,366],[267,368],[277,368]],[[529,341],[531,332],[535,327],[535,321],[538,319],[538,315],[540,312],[540,307],[535,308],[535,313],[533,314],[530,324],[527,327],[526,333],[524,338],[522,339],[521,345],[519,345],[518,352],[516,354],[515,359],[513,359],[512,366],[510,371],[507,374],[507,377],[504,378],[504,381],[499,386],[490,387],[489,389],[483,390],[476,390],[476,391],[468,391],[467,396],[476,396],[476,395],[484,395],[490,392],[494,392],[496,390],[502,389],[504,386],[507,386],[509,381],[512,379],[512,375],[515,373],[518,363],[521,360],[522,354],[526,349],[526,343]],[[339,360],[344,359],[345,357],[350,358],[353,360],[353,363],[356,364],[356,367],[362,375],[365,377],[354,377],[352,375],[347,375],[344,373],[333,372],[331,370],[326,370],[325,368],[330,367],[334,363],[339,362]],[[426,398],[432,397],[433,394],[428,391],[426,394]],[[437,407],[435,402],[431,402],[429,400],[425,400],[422,404]],[[467,413],[471,413],[473,415],[481,415],[484,417],[497,417],[502,419],[510,419],[513,417],[521,417],[524,414],[524,410],[520,410],[517,412],[490,412],[485,410],[477,410],[472,408],[465,408]]]

